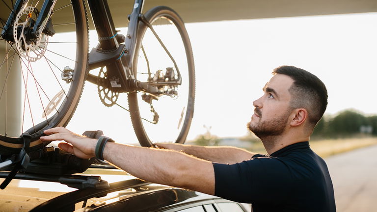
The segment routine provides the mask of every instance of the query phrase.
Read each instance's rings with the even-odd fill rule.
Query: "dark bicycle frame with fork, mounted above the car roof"
[[[15,2],[15,9],[9,15],[6,25],[2,31],[3,38],[6,40],[13,39],[13,30],[11,30],[12,21],[20,10],[24,8],[28,0],[17,0]],[[48,27],[48,23],[53,14],[53,8],[56,0],[45,0],[42,5],[42,9],[39,13],[37,20],[35,21],[33,29],[30,31],[30,39],[38,38],[45,27]],[[93,17],[94,26],[96,28],[99,37],[99,46],[94,48],[90,52],[90,57],[88,61],[88,71],[99,68],[107,67],[107,73],[113,79],[112,81],[104,80],[92,74],[87,75],[87,80],[101,85],[103,87],[111,88],[115,92],[135,92],[144,91],[156,96],[161,96],[163,93],[158,89],[157,86],[164,85],[180,85],[182,82],[181,74],[179,72],[178,66],[174,58],[171,56],[169,51],[166,49],[162,41],[160,40],[157,33],[154,31],[152,25],[144,18],[142,8],[144,5],[144,0],[135,0],[134,7],[131,15],[129,16],[129,26],[127,35],[122,40],[118,42],[117,32],[111,17],[111,13],[108,7],[107,0],[88,0],[90,12]],[[99,14],[99,15],[97,15]],[[153,34],[156,36],[160,44],[162,45],[165,52],[169,55],[170,59],[173,61],[178,79],[172,81],[154,81],[154,82],[141,82],[135,79],[134,73],[134,58],[137,42],[137,32],[139,24],[143,23],[151,29]],[[7,33],[5,33],[7,32]],[[10,34],[12,33],[12,34]],[[54,35],[54,32],[49,35]],[[123,43],[124,44],[120,44]],[[150,71],[148,70],[149,74]]]

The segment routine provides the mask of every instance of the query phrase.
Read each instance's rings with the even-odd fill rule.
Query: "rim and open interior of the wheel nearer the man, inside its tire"
[[[154,113],[150,111],[151,106],[142,100],[143,92],[137,93],[136,99],[140,116],[148,120],[142,119],[141,124],[144,132],[147,134],[147,140],[149,142],[182,142],[180,140],[181,132],[183,127],[186,127],[184,126],[185,120],[190,116],[190,114],[187,114],[188,99],[190,88],[193,85],[189,78],[185,46],[180,32],[172,20],[173,19],[168,15],[158,16],[153,19],[152,26],[176,60],[176,64],[182,75],[182,84],[177,88],[178,97],[172,98],[163,95],[158,101],[152,101],[154,109],[160,116],[157,124],[150,123],[150,121],[154,119]],[[174,67],[174,63],[165,53],[149,28],[146,29],[144,34],[142,47],[145,53],[153,52],[151,56],[147,55],[152,77],[157,70],[163,70],[163,72],[165,72],[167,67]],[[148,68],[142,49],[139,50],[136,70],[136,79],[147,81],[148,75],[145,73]]]

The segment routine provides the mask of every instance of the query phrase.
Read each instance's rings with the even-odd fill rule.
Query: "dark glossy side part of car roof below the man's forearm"
[[[186,189],[157,185],[139,179],[111,183],[108,188],[88,187],[72,191],[46,201],[31,212],[74,211],[76,204],[85,202],[89,211],[158,211],[175,205],[188,204],[217,197]]]

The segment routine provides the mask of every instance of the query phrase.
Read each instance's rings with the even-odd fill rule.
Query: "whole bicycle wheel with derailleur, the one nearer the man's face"
[[[134,130],[142,146],[151,146],[153,142],[184,143],[193,117],[195,99],[194,61],[188,33],[179,15],[168,7],[154,7],[145,14],[145,18],[153,26],[175,63],[151,29],[140,23],[135,52],[138,56],[135,56],[133,64],[135,78],[151,81],[153,78],[169,75],[171,71],[177,77],[178,69],[182,83],[178,86],[159,87],[165,93],[174,94],[162,95],[156,98],[158,100],[143,92],[129,93]],[[169,74],[167,70],[170,70]],[[153,107],[149,102],[152,102]],[[158,122],[154,123],[157,118]]]

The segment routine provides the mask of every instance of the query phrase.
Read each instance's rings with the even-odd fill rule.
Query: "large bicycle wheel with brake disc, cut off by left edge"
[[[0,2],[13,8],[13,0]],[[28,1],[3,30],[9,14],[0,16],[0,154],[20,151],[21,135],[30,134],[30,151],[47,145],[39,137],[66,126],[80,100],[88,60],[88,24],[83,0],[58,0],[40,38],[27,31],[42,1]],[[6,17],[4,17],[6,16]],[[55,34],[53,33],[55,32]],[[48,35],[49,34],[49,35]]]

